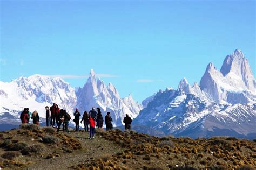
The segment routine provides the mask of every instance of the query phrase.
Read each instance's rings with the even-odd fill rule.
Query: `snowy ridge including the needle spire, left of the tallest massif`
[[[2,126],[2,130],[6,130],[19,125],[19,115],[23,108],[29,108],[31,112],[37,110],[41,122],[44,121],[45,106],[50,107],[52,103],[66,109],[71,117],[76,107],[81,114],[84,110],[99,107],[103,116],[107,111],[111,112],[114,125],[122,125],[125,114],[134,118],[142,109],[142,105],[135,102],[131,95],[120,98],[113,84],[105,86],[102,80],[96,80],[93,70],[84,87],[76,89],[63,79],[38,74],[19,77],[11,82],[0,81],[0,99],[0,130]]]

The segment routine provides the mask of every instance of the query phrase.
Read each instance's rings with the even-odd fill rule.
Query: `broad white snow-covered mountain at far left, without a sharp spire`
[[[45,106],[57,103],[60,108],[72,112],[76,105],[75,90],[59,78],[42,75],[19,77],[11,82],[0,81],[0,124],[19,124],[23,108],[36,110],[45,118]],[[9,121],[7,121],[9,119]]]

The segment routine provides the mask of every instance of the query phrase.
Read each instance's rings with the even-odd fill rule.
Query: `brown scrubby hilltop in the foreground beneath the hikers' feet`
[[[135,131],[59,132],[36,125],[0,132],[6,169],[254,169],[256,141],[152,137]]]

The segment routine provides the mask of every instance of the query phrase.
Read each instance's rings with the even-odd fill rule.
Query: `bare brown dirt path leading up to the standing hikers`
[[[66,169],[71,166],[77,166],[79,164],[90,164],[99,157],[104,156],[106,153],[114,155],[117,152],[122,152],[123,150],[120,146],[113,144],[98,135],[95,136],[95,139],[88,139],[88,132],[71,131],[68,134],[80,141],[80,143],[82,144],[81,150],[74,151],[73,153],[63,153],[63,151],[57,150],[56,152],[59,154],[59,157],[46,159],[44,156],[43,158],[38,158],[37,160],[35,160],[35,164],[31,164],[27,168]]]

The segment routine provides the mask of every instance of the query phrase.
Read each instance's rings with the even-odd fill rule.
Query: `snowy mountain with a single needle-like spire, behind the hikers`
[[[113,84],[109,83],[106,86],[102,80],[96,79],[93,69],[91,69],[90,77],[84,87],[77,90],[77,108],[88,112],[92,107],[99,107],[103,116],[109,111],[114,126],[122,125],[125,114],[135,118],[143,109],[142,105],[135,102],[131,95],[120,98]]]

